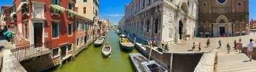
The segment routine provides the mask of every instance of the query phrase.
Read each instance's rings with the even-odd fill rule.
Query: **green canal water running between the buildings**
[[[92,45],[89,48],[80,52],[71,62],[62,66],[51,69],[53,72],[133,72],[133,64],[130,62],[129,53],[137,53],[137,50],[132,52],[123,52],[119,46],[119,37],[113,31],[106,34],[104,44],[111,45],[112,54],[108,58],[102,57],[102,47],[95,48]]]

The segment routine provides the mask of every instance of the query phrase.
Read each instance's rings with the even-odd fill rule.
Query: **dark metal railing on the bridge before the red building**
[[[18,59],[22,61],[24,59],[30,59],[31,57],[36,57],[37,55],[42,54],[43,52],[49,52],[50,50],[44,47],[42,44],[32,44],[32,45],[23,45],[22,47],[12,49],[11,52]]]

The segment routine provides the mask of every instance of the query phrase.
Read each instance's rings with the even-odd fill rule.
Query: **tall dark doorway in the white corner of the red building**
[[[42,23],[34,23],[34,42],[35,48],[42,47]]]

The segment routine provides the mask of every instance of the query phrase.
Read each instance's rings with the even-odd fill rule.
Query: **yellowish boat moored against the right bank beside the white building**
[[[128,40],[128,38],[120,38],[119,43],[121,45],[122,50],[126,52],[130,52],[133,50],[134,45]]]

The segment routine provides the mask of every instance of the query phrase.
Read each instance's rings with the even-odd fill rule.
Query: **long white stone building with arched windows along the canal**
[[[125,10],[128,36],[179,43],[195,36],[197,0],[133,0]]]

